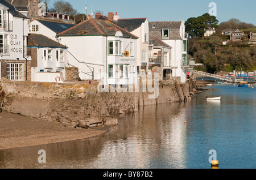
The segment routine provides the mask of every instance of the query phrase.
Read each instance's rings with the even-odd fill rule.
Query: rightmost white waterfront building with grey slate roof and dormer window
[[[172,47],[171,75],[180,77],[181,83],[187,79],[188,36],[185,33],[184,21],[179,22],[149,22],[149,37],[159,38]]]

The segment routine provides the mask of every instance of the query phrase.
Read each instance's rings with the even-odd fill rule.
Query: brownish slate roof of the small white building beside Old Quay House
[[[32,46],[48,48],[67,48],[67,46],[62,45],[59,42],[53,41],[44,35],[34,33],[28,34],[27,46],[28,48]]]

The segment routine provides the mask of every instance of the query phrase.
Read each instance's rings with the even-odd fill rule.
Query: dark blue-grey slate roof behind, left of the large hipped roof
[[[69,23],[63,23],[63,22],[57,22],[53,20],[42,20],[42,19],[36,19],[38,22],[45,25],[47,28],[51,29],[55,33],[60,33],[63,31],[66,31],[69,28],[74,27],[76,24],[69,24]]]

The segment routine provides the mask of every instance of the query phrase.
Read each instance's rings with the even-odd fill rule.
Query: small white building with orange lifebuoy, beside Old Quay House
[[[66,46],[44,35],[29,34],[27,49],[32,58],[32,82],[64,82]]]

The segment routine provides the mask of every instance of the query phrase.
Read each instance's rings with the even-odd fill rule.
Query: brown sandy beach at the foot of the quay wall
[[[75,128],[57,122],[0,113],[0,149],[85,139],[108,132],[108,127]]]

